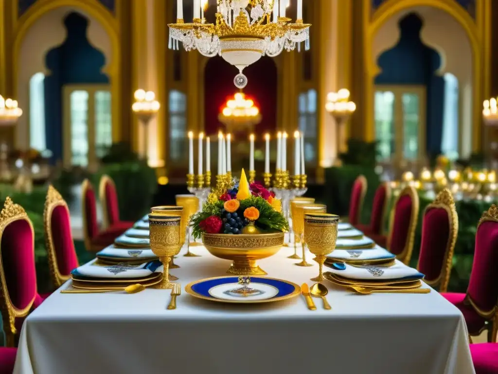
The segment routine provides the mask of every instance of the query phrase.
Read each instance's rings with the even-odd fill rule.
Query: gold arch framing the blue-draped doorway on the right
[[[478,27],[470,14],[461,6],[455,6],[454,0],[385,0],[373,13],[371,21],[367,22],[364,29],[364,52],[366,59],[367,81],[365,84],[365,110],[366,110],[366,132],[367,140],[372,141],[375,138],[373,123],[373,79],[379,73],[376,61],[373,59],[372,41],[379,28],[392,16],[406,9],[429,6],[441,9],[450,14],[466,31],[472,47],[472,86],[475,92],[476,103],[482,100],[482,61],[481,49],[482,40]],[[484,4],[481,6],[485,6]],[[364,19],[370,14],[370,5],[364,9]],[[473,150],[477,151],[481,146],[481,108],[474,104],[472,113],[473,123]],[[479,124],[479,126],[477,126]]]

